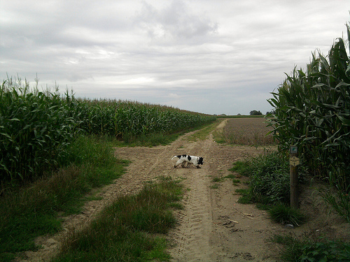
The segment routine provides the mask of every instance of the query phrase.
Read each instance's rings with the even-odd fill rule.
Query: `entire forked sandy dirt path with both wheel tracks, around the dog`
[[[225,121],[218,126],[221,129]],[[169,233],[172,261],[275,261],[272,233],[285,229],[273,224],[255,205],[237,203],[237,186],[232,180],[213,182],[214,177],[230,175],[232,163],[263,152],[263,148],[218,145],[210,134],[205,140],[190,142],[187,133],[171,145],[158,147],[120,147],[116,157],[132,161],[125,175],[115,183],[94,192],[102,198],[85,204],[83,212],[66,217],[65,231],[53,238],[38,238],[43,249],[26,252],[25,261],[48,261],[57,252],[59,240],[69,228],[83,226],[120,194],[134,194],[144,182],[160,175],[182,177],[186,190],[184,210],[176,212],[178,226]],[[204,157],[202,168],[174,168],[172,157],[191,154]],[[243,183],[240,183],[243,184]],[[240,185],[238,187],[244,187]]]

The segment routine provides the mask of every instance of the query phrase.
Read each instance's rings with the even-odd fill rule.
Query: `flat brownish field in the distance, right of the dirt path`
[[[267,127],[265,118],[231,118],[223,120],[225,127],[216,133],[220,143],[235,145],[275,145],[271,134],[272,127]]]

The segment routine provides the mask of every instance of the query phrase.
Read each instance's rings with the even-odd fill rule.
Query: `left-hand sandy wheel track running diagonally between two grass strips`
[[[52,256],[57,254],[62,239],[69,231],[89,224],[106,205],[109,205],[118,196],[135,194],[142,189],[145,182],[155,180],[160,175],[168,175],[174,169],[170,161],[174,156],[172,155],[174,149],[183,147],[187,143],[186,137],[193,133],[186,133],[171,145],[166,146],[114,148],[114,154],[118,159],[131,161],[130,165],[126,167],[125,174],[102,189],[93,189],[89,195],[99,200],[85,203],[79,214],[62,217],[62,232],[53,236],[43,235],[36,238],[36,245],[42,248],[36,252],[23,252],[16,261],[49,261]]]

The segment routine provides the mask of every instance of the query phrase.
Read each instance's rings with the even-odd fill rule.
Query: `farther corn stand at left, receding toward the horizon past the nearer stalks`
[[[214,120],[208,115],[130,101],[81,103],[86,112],[79,118],[80,129],[90,134],[109,134],[124,140],[149,133],[174,133]]]

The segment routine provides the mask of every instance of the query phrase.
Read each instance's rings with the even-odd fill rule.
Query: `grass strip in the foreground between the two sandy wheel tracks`
[[[160,177],[139,194],[118,197],[90,226],[71,231],[53,261],[169,261],[159,234],[176,223],[172,209],[181,208],[180,181]]]

